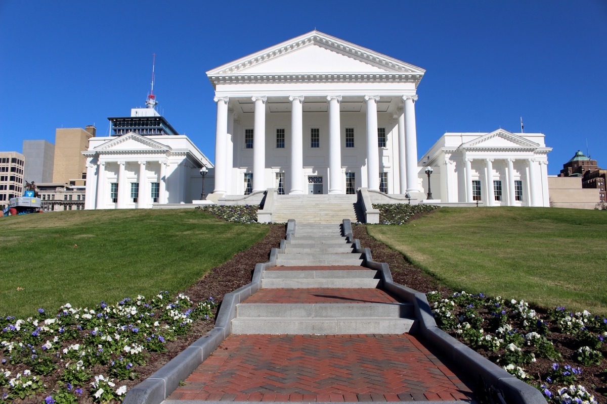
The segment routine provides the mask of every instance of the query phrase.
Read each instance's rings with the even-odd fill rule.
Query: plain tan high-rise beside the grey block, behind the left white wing
[[[57,128],[55,130],[55,159],[53,183],[86,185],[86,157],[89,141],[95,137],[96,128]]]

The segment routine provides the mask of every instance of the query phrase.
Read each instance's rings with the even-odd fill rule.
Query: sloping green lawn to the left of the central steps
[[[193,209],[2,217],[0,316],[185,290],[267,233]]]

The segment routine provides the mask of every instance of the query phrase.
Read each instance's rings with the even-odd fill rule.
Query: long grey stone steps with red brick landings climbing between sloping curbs
[[[403,334],[414,325],[413,306],[378,288],[340,225],[297,224],[276,262],[236,305],[232,334]]]

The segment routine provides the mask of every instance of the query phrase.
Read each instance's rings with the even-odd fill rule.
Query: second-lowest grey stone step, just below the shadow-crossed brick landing
[[[240,303],[236,305],[236,317],[245,318],[360,318],[382,317],[403,319],[413,316],[410,303]]]

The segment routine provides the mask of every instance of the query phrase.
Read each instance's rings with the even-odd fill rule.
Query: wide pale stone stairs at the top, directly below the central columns
[[[346,194],[278,195],[274,202],[272,221],[285,223],[295,219],[297,224],[341,223],[350,219],[356,223],[357,196]]]

